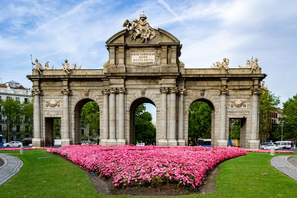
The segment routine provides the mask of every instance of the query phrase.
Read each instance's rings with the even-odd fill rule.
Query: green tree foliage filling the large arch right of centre
[[[196,101],[189,108],[189,137],[194,139],[210,139],[211,109],[202,101]]]

